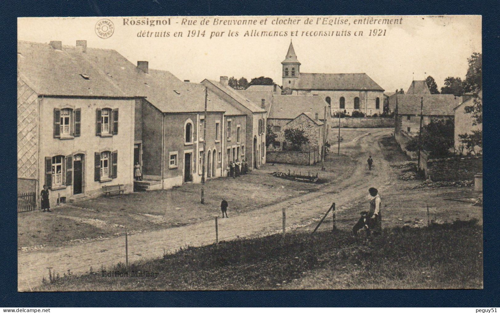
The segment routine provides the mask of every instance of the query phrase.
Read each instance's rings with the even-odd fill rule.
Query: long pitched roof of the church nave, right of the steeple
[[[293,89],[380,90],[366,73],[299,73]]]

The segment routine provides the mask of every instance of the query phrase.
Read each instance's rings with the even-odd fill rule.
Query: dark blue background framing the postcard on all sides
[[[10,3],[6,3],[10,2]],[[1,252],[0,306],[477,306],[498,305],[497,1],[2,1],[0,17]],[[16,17],[130,15],[314,15],[482,14],[484,54],[484,289],[483,290],[300,290],[169,292],[17,292],[16,244]],[[454,34],[460,36],[460,33]],[[397,51],[388,51],[397,53]],[[465,74],[465,73],[464,73]],[[462,75],[463,76],[463,75]],[[491,156],[491,157],[490,157]]]

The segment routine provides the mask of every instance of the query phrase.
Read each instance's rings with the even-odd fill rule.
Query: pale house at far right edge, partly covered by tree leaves
[[[477,96],[482,100],[482,90],[477,92]],[[472,113],[466,113],[464,107],[474,104],[474,96],[464,96],[465,100],[453,108],[454,111],[454,148],[457,153],[460,152],[462,144],[459,134],[472,133],[473,130],[482,130],[482,123],[472,125],[474,117]],[[474,151],[480,151],[479,146],[474,147]],[[465,152],[465,151],[464,151]]]

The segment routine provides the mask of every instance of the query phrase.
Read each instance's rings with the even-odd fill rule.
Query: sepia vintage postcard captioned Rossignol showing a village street
[[[17,27],[19,291],[482,288],[481,16]]]

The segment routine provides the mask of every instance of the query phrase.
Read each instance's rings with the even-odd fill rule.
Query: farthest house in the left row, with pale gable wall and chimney
[[[220,76],[220,81],[204,79],[202,82],[209,90],[221,99],[241,111],[246,116],[244,157],[248,168],[258,168],[265,163],[265,106],[242,95],[239,90],[234,90],[228,85],[227,76]],[[225,123],[227,127],[227,121]],[[232,122],[231,122],[231,126]],[[232,137],[231,137],[232,139]],[[232,152],[231,152],[232,153]],[[231,154],[232,155],[232,154]]]

